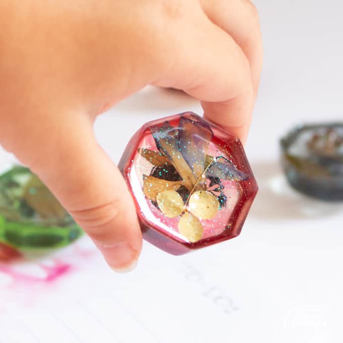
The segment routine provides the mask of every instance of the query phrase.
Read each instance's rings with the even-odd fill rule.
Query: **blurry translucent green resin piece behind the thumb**
[[[14,166],[0,176],[0,246],[24,254],[45,252],[71,244],[82,233],[30,169]]]

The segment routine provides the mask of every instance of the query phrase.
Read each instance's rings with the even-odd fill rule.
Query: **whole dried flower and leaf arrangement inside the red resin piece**
[[[150,131],[158,151],[138,149],[153,165],[150,175],[143,176],[144,195],[166,217],[180,216],[180,234],[195,243],[204,231],[201,220],[225,207],[222,180],[249,176],[227,158],[208,154],[213,132],[205,122],[181,117],[178,127],[165,121]]]

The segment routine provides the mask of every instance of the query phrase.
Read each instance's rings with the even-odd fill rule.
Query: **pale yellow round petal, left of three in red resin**
[[[164,191],[158,193],[156,201],[159,209],[168,218],[177,217],[185,209],[184,201],[176,191]]]

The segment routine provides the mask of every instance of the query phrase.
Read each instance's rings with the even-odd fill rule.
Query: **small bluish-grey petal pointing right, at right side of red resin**
[[[214,177],[222,180],[243,181],[248,180],[249,175],[238,170],[234,163],[225,157],[216,157],[212,164],[206,170],[206,177]]]

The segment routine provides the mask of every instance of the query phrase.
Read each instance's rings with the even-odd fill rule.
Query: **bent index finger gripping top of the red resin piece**
[[[178,58],[158,85],[183,89],[198,98],[204,116],[245,142],[255,96],[249,61],[241,47],[199,13],[177,35]]]

